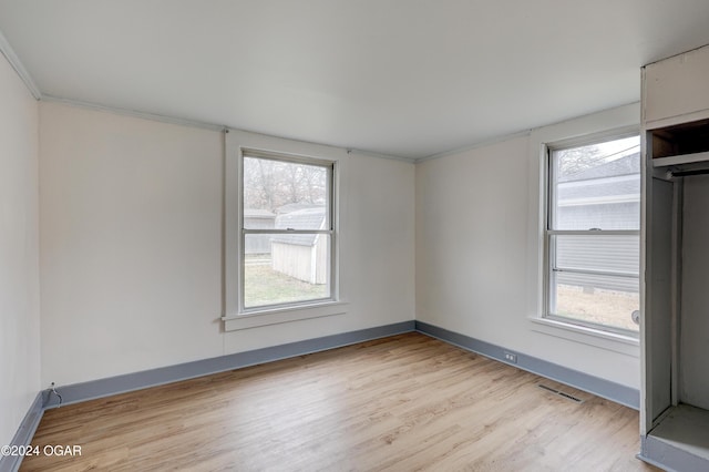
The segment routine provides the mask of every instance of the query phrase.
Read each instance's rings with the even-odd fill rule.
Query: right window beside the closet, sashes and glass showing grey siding
[[[548,148],[545,317],[637,336],[639,136]]]

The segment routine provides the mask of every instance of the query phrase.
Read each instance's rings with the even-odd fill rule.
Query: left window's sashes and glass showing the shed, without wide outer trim
[[[335,300],[335,163],[242,155],[240,312]]]

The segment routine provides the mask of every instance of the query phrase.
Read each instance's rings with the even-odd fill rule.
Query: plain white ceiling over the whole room
[[[708,0],[0,0],[53,98],[419,158],[639,100]]]

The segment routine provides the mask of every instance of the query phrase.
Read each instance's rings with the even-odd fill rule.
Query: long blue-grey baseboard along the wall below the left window
[[[212,359],[203,359],[176,366],[161,367],[141,372],[109,377],[89,382],[73,383],[63,387],[60,386],[56,390],[62,396],[62,404],[79,403],[96,398],[110,397],[117,393],[125,393],[129,391],[178,382],[181,380],[194,379],[227,370],[240,369],[258,363],[273,362],[295,356],[302,356],[342,346],[354,345],[357,342],[384,338],[387,336],[411,332],[414,330],[414,327],[415,324],[413,320],[402,321],[393,325],[360,329],[357,331],[325,336],[322,338],[306,339],[304,341],[289,342],[287,345],[237,352]],[[50,396],[44,408],[49,409],[56,407],[59,407],[59,399],[55,396]]]

